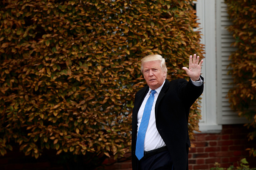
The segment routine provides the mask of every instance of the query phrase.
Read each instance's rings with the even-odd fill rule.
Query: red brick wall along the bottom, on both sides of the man
[[[247,158],[250,167],[256,167],[256,158],[250,157],[245,149],[256,148],[256,141],[247,140],[248,130],[242,124],[223,125],[220,134],[196,134],[195,140],[191,141],[196,145],[190,148],[189,169],[209,170],[215,162],[219,162],[222,167],[229,167],[231,164],[237,165],[241,158]],[[58,163],[59,155],[55,151],[44,152],[38,159],[25,156],[19,152],[19,146],[15,146],[13,151],[8,151],[5,156],[0,156],[0,170],[72,170],[65,164]],[[118,162],[113,158],[107,158],[103,162],[104,166],[97,170],[131,170],[131,153]],[[73,167],[77,166],[75,163]],[[76,170],[87,170],[86,166],[78,166]]]

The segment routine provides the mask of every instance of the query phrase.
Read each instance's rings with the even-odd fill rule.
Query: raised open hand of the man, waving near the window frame
[[[194,54],[194,57],[192,59],[192,55],[189,57],[189,67],[182,67],[183,70],[186,71],[187,76],[191,78],[193,81],[197,81],[200,78],[200,73],[201,73],[201,66],[203,63],[203,60],[199,62],[199,56]]]

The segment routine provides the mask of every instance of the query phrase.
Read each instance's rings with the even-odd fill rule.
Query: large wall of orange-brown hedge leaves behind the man
[[[0,153],[123,156],[131,146],[140,59],[165,57],[168,79],[202,56],[192,0],[0,1]],[[190,138],[198,130],[191,108]],[[101,160],[102,161],[102,160]]]

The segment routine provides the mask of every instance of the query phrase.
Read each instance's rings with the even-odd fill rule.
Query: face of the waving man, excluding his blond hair
[[[143,75],[147,85],[155,90],[165,81],[166,73],[162,71],[160,61],[148,61],[143,65]]]

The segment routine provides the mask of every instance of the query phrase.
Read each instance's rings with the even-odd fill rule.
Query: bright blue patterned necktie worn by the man
[[[150,112],[154,103],[154,94],[155,90],[150,91],[150,97],[147,99],[147,103],[141,118],[139,131],[137,133],[137,142],[136,142],[136,150],[135,155],[140,160],[144,156],[144,140],[147,132],[147,125],[150,118]]]

